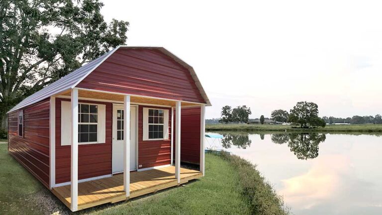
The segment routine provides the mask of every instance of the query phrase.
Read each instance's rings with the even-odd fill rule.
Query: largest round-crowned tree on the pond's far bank
[[[290,109],[288,121],[299,124],[302,128],[310,126],[325,127],[325,121],[318,117],[318,106],[312,102],[298,102],[293,109]]]

